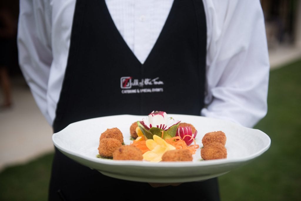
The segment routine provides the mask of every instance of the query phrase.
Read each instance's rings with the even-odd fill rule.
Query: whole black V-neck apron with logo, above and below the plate
[[[75,121],[108,115],[147,116],[153,110],[200,115],[206,34],[202,1],[175,0],[159,38],[141,64],[118,32],[105,1],[77,0],[54,132]],[[162,193],[183,199],[172,191],[185,189],[192,192],[189,197],[198,200],[219,199],[216,179],[153,188],[147,183],[104,176],[56,149],[49,198],[90,200],[107,195],[117,200],[143,196],[162,199]]]

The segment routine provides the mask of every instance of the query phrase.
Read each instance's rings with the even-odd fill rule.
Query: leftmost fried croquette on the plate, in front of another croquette
[[[98,153],[105,158],[113,158],[113,152],[123,146],[122,143],[114,138],[104,138],[99,141]]]

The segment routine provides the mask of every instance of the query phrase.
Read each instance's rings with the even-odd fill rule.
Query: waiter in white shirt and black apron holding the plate
[[[253,127],[267,112],[259,1],[24,0],[18,49],[54,132],[153,110]],[[216,178],[158,186],[104,176],[55,149],[49,200],[219,200]]]

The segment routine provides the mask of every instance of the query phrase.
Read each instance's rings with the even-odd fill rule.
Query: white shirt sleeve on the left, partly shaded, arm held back
[[[52,62],[50,9],[47,0],[20,1],[17,34],[20,69],[49,124],[46,96]]]

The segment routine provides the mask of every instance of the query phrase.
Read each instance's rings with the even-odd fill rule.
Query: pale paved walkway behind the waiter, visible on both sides
[[[271,69],[301,58],[301,48],[270,51]],[[53,151],[52,129],[39,111],[23,77],[12,78],[14,105],[0,111],[0,171]],[[0,102],[2,102],[0,93]]]

